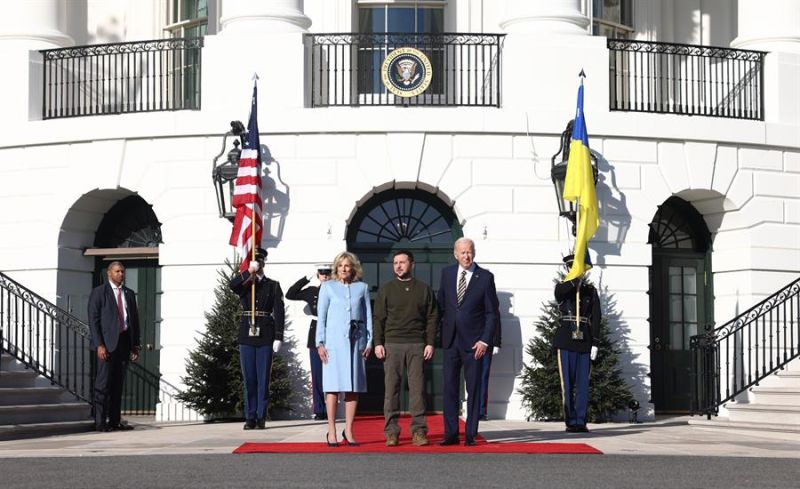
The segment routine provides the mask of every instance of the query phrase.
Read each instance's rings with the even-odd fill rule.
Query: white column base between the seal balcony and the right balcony
[[[508,0],[500,28],[508,33],[586,36],[589,18],[581,13],[580,4],[580,0]]]

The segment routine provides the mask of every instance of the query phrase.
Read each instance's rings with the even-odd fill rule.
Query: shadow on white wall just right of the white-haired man
[[[498,292],[502,339],[500,352],[492,359],[492,373],[489,379],[489,401],[487,406],[491,418],[505,419],[508,414],[508,400],[514,393],[514,381],[522,372],[522,331],[519,318],[511,314],[513,294]],[[499,367],[508,366],[510,371]],[[502,373],[501,373],[502,372]],[[492,403],[492,399],[495,400]]]

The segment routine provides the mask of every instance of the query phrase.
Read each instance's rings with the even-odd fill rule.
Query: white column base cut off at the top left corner
[[[5,2],[0,15],[0,48],[52,49],[71,46],[61,31],[63,0]]]

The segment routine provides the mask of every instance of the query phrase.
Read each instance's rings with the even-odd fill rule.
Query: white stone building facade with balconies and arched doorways
[[[435,286],[453,239],[473,238],[502,307],[490,417],[526,416],[516,393],[530,360],[524,348],[572,243],[550,170],[581,70],[599,170],[591,275],[613,299],[624,374],[647,416],[688,409],[689,336],[735,318],[800,272],[794,0],[2,7],[0,271],[85,318],[102,260],[126,258],[140,301],[152,296],[151,365],[175,385],[213,304],[217,271],[233,256],[210,170],[232,148],[230,137],[222,146],[229,121],[247,120],[253,73],[270,157],[268,275],[285,290],[313,264],[351,249],[378,285],[390,276],[392,246],[410,246],[418,275]],[[377,74],[399,44],[355,46],[346,35],[333,50],[319,44],[334,39],[327,33],[375,42],[386,32],[410,33],[403,42],[412,44],[415,35],[463,34],[448,38],[449,47],[426,45],[432,88],[409,106]],[[146,55],[125,55],[126,45],[99,55],[82,48],[48,60],[40,51],[198,34],[202,47],[180,56],[174,45]],[[481,38],[488,51],[464,47],[485,34],[500,35],[495,44]],[[615,51],[599,34],[646,43]],[[722,49],[703,51],[709,46]],[[748,64],[725,48],[766,54]],[[407,205],[398,215],[381,211],[396,202]],[[415,219],[431,237],[414,231]],[[287,304],[295,340],[287,348],[307,368],[307,319]]]

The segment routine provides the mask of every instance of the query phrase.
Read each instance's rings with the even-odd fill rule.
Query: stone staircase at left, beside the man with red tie
[[[91,407],[0,354],[0,440],[91,431]]]

